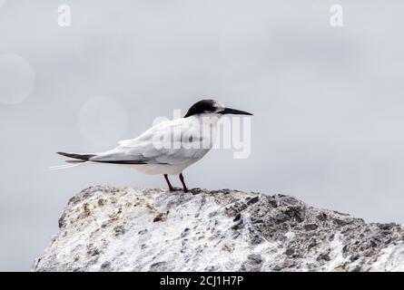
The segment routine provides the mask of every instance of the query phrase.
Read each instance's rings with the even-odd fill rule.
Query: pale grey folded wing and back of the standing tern
[[[170,136],[168,136],[170,135]],[[191,137],[192,136],[192,137]],[[201,159],[209,149],[202,149],[199,129],[190,122],[164,121],[133,140],[97,154],[90,161],[114,164],[176,165]]]

